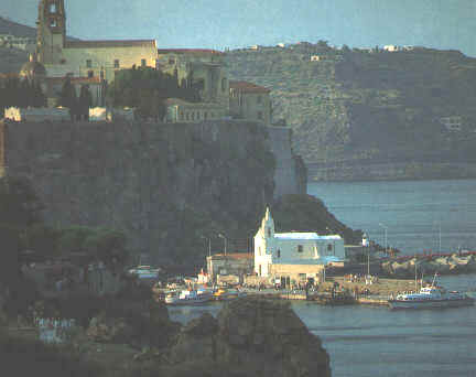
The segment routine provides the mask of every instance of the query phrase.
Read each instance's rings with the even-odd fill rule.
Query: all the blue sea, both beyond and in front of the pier
[[[307,193],[351,228],[403,254],[476,250],[476,180],[311,183]],[[441,240],[441,241],[440,241]],[[476,298],[476,274],[440,277]],[[331,356],[334,377],[476,376],[476,306],[391,311],[386,306],[292,308]],[[187,322],[220,304],[171,308]]]

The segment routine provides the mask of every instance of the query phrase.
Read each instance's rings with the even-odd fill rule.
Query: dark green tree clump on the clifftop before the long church
[[[165,116],[165,99],[197,103],[201,100],[199,89],[199,83],[194,83],[193,77],[178,83],[176,72],[169,75],[150,67],[133,67],[116,73],[108,97],[116,107],[134,107],[142,117],[162,119]]]

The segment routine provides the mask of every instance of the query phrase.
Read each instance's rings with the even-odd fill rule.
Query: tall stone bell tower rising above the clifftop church
[[[64,0],[40,0],[36,22],[36,54],[42,64],[62,63],[66,41]]]

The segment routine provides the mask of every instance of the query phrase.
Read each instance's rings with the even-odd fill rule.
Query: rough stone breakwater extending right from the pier
[[[382,272],[391,277],[414,277],[416,271],[421,276],[476,273],[476,256],[458,255],[439,257],[418,257],[405,261],[386,261],[381,265]]]

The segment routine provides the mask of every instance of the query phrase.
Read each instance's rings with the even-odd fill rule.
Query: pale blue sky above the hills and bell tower
[[[34,26],[40,0],[0,0],[0,15]],[[65,0],[67,33],[155,39],[159,47],[225,50],[328,41],[459,50],[476,56],[476,0]]]

